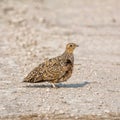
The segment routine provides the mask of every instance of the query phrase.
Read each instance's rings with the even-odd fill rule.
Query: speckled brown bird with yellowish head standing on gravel
[[[23,80],[23,82],[39,83],[49,82],[53,88],[55,83],[67,81],[73,72],[74,50],[78,47],[75,43],[68,43],[65,51],[54,58],[46,59],[35,67]]]

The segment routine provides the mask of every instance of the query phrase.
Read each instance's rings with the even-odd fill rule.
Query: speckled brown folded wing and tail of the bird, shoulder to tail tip
[[[66,75],[70,67],[70,61],[66,61],[61,57],[52,58],[34,68],[24,79],[24,82],[59,80]]]

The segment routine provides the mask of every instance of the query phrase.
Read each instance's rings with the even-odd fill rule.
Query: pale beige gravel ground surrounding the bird
[[[119,0],[1,0],[0,118],[119,120],[119,10]],[[22,82],[69,42],[79,48],[66,83]]]

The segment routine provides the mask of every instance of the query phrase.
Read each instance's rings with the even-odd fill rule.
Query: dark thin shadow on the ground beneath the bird
[[[87,84],[90,84],[90,82],[85,81],[83,83],[76,83],[76,84],[73,84],[73,83],[61,84],[61,83],[59,83],[59,84],[56,84],[56,87],[57,88],[79,88],[79,87],[84,87]],[[50,84],[48,84],[48,85],[43,85],[43,84],[36,85],[36,84],[34,84],[34,85],[27,85],[25,87],[27,87],[27,88],[52,88],[52,86]]]

